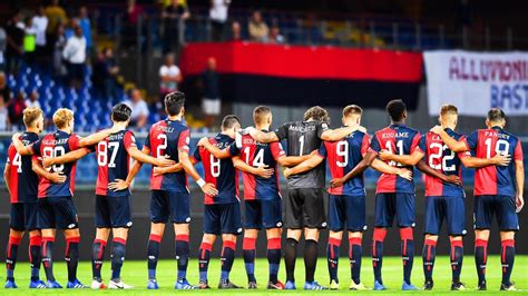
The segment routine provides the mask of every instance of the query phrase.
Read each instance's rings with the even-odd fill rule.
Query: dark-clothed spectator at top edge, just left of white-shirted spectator
[[[173,0],[170,6],[162,11],[164,28],[163,52],[176,51],[179,48],[179,21],[190,17],[187,0]]]

